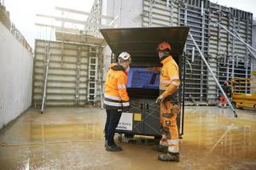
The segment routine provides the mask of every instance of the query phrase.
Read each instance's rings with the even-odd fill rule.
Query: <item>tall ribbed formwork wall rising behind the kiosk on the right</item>
[[[143,0],[143,26],[189,26],[220,84],[231,77],[250,77],[251,59],[247,48],[216,22],[236,31],[245,42],[252,43],[253,14],[207,0]],[[186,59],[193,71],[192,75],[186,71],[185,101],[193,98],[197,103],[216,104],[220,95],[218,86],[197,50],[192,61],[193,47],[195,45],[188,37]],[[189,68],[188,63],[186,68]]]

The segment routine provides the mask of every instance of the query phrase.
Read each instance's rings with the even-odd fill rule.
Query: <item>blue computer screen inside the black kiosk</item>
[[[160,74],[147,68],[131,68],[127,88],[159,88]]]

